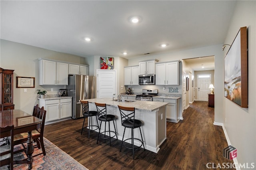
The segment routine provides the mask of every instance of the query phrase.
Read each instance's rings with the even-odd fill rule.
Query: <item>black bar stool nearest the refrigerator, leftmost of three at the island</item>
[[[81,135],[82,135],[83,131],[87,131],[88,132],[88,138],[90,138],[90,132],[99,129],[99,124],[98,124],[98,120],[97,120],[97,117],[96,117],[98,112],[97,111],[89,111],[88,101],[80,101],[80,102],[81,102],[81,105],[82,105],[82,112],[83,112],[83,115],[84,115],[84,122],[85,122],[86,117],[88,117],[88,122],[89,122],[89,125],[86,126],[86,127],[84,127],[84,123],[83,123],[83,127],[82,127],[82,130],[81,130]],[[97,125],[92,125],[92,117],[94,117],[94,116],[96,118]],[[93,129],[93,127],[96,127],[96,128]],[[87,128],[89,128],[89,129],[87,129]]]

